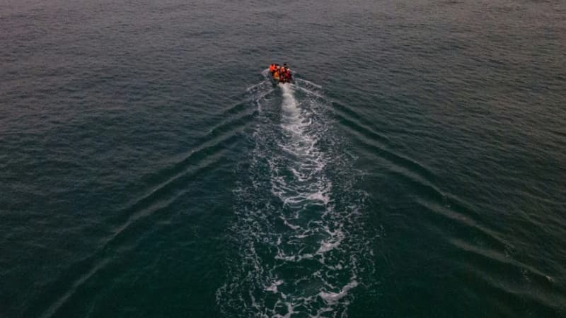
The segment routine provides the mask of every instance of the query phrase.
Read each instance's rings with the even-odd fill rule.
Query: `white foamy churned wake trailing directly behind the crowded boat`
[[[371,248],[360,172],[341,152],[320,86],[279,88],[258,100],[253,148],[238,165],[238,252],[216,300],[226,317],[345,317],[371,271],[361,261]]]

